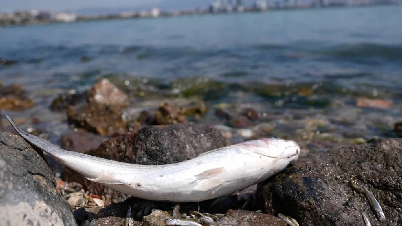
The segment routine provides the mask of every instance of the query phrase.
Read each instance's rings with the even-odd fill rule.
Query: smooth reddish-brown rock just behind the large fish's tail
[[[92,148],[99,147],[103,138],[86,132],[73,132],[61,138],[61,147],[66,150],[84,153]]]

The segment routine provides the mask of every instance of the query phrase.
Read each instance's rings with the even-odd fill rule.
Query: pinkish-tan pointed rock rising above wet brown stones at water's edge
[[[89,91],[88,102],[101,105],[119,105],[122,108],[129,106],[127,94],[107,78],[99,80]]]

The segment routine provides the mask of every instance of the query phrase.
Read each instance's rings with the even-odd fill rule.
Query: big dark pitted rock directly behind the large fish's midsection
[[[188,123],[147,126],[138,133],[127,133],[104,141],[98,148],[85,154],[119,162],[162,165],[189,160],[223,146],[226,146],[226,140],[220,131],[209,126]],[[105,205],[124,201],[129,197],[100,183],[88,181],[70,168],[66,168],[64,179],[81,183],[91,193],[105,195]]]

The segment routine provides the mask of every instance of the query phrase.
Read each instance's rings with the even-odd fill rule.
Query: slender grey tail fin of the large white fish
[[[3,109],[4,111],[4,109]],[[18,133],[19,136],[24,138],[29,144],[32,144],[36,146],[37,148],[43,150],[46,153],[49,153],[51,155],[55,154],[58,150],[62,150],[59,147],[55,146],[54,144],[50,143],[47,140],[43,140],[42,138],[39,138],[37,136],[34,136],[32,134],[28,134],[27,132],[23,131],[22,129],[18,128],[14,120],[10,116],[6,114],[6,111],[4,111],[4,115],[6,115],[6,118],[8,122],[10,122],[11,126],[15,129],[15,131]]]

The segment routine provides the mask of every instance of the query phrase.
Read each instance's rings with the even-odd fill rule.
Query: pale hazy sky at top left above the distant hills
[[[0,11],[41,9],[76,10],[80,8],[136,7],[174,0],[0,0]],[[189,0],[191,1],[191,0]]]

